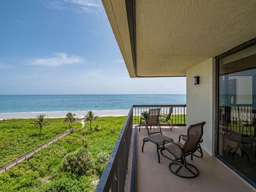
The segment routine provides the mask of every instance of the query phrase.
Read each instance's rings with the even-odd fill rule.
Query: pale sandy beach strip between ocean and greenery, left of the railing
[[[36,111],[36,112],[21,112],[21,113],[0,113],[0,120],[12,118],[36,118],[39,114],[45,114],[47,118],[63,118],[68,112],[76,114],[76,117],[84,117],[88,111]],[[99,110],[93,111],[99,117],[107,116],[126,116],[129,110]]]

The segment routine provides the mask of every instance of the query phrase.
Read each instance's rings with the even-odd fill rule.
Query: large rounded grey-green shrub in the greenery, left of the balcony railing
[[[90,175],[93,173],[92,154],[86,148],[80,148],[73,154],[64,157],[61,170],[78,175]]]

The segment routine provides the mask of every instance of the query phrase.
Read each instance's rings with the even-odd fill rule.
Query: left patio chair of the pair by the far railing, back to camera
[[[145,119],[145,121],[141,122],[143,125],[146,126],[146,129],[148,130],[148,136],[150,136],[150,134],[155,134],[155,133],[161,133],[162,135],[162,130],[161,130],[161,126],[160,123],[158,121],[159,115],[160,115],[160,110],[161,109],[149,109],[148,111],[148,118]],[[149,127],[150,130],[153,128],[155,129],[155,126],[159,126],[159,130],[160,131],[156,131],[156,132],[149,132]],[[140,128],[139,128],[140,131]]]

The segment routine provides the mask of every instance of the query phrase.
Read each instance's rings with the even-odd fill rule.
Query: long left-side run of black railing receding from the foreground
[[[124,191],[133,126],[133,108],[130,109],[124,126],[110,155],[95,191]]]

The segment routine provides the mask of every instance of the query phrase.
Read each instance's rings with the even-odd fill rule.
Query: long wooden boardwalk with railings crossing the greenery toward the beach
[[[75,130],[75,128],[72,128],[72,129],[67,130],[67,131],[65,131],[63,133],[60,133],[57,136],[55,136],[54,138],[52,138],[51,140],[46,141],[42,145],[39,145],[36,148],[34,148],[34,149],[30,150],[30,151],[27,151],[27,153],[22,154],[19,157],[14,158],[11,161],[1,165],[0,166],[0,173],[5,172],[6,170],[10,170],[10,169],[12,169],[12,167],[17,166],[21,162],[26,161],[27,159],[33,157],[39,150],[41,150],[41,149],[51,145],[52,143],[58,141],[59,139],[65,137],[66,135],[70,134],[74,130]]]

